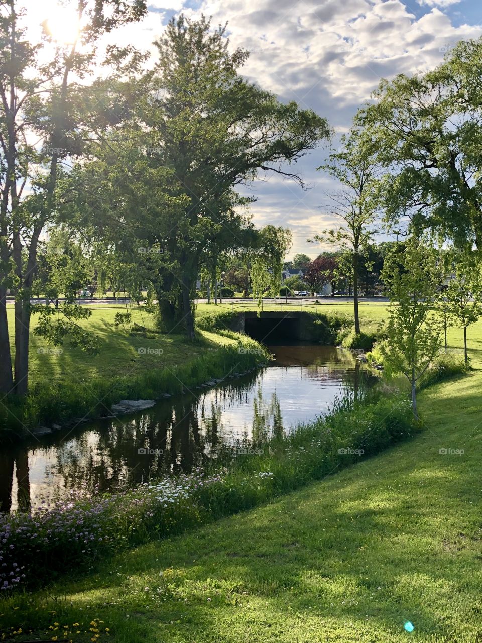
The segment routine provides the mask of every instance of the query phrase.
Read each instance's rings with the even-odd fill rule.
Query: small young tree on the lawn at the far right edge
[[[463,354],[467,364],[467,328],[482,316],[481,267],[474,257],[467,255],[456,262],[454,278],[445,291],[445,303],[447,313],[463,328]]]

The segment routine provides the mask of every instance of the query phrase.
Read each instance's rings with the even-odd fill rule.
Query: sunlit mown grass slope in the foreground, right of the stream
[[[480,369],[482,323],[469,335]],[[451,344],[460,337],[452,331]],[[481,370],[434,386],[420,397],[426,430],[411,442],[268,506],[124,552],[58,584],[55,604],[45,593],[16,597],[4,622],[47,631],[54,620],[100,618],[126,643],[479,643],[481,392]]]

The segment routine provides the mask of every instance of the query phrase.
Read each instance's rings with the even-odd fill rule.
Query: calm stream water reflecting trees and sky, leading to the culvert
[[[166,400],[111,424],[0,453],[2,511],[28,509],[70,489],[120,489],[190,471],[240,441],[271,435],[324,415],[348,377],[358,395],[360,364],[333,347],[272,347],[276,363],[199,395]],[[142,452],[139,453],[139,450]]]

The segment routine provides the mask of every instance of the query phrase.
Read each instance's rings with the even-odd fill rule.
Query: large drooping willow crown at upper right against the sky
[[[482,39],[433,71],[382,80],[360,123],[377,140],[386,218],[482,248]]]

